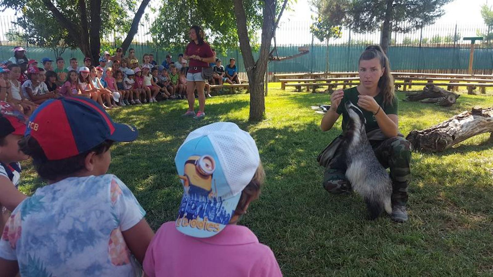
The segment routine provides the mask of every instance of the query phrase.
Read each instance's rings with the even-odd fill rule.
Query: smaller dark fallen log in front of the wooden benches
[[[459,94],[442,89],[435,85],[426,85],[423,91],[408,92],[404,101],[420,101],[421,103],[436,103],[441,106],[451,106],[456,103]]]

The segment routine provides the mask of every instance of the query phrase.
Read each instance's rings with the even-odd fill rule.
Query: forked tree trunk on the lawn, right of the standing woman
[[[265,119],[264,74],[267,69],[271,41],[274,35],[276,0],[264,1],[262,9],[262,38],[259,57],[256,62],[253,59],[250,39],[248,38],[245,7],[242,0],[234,0],[234,10],[240,50],[242,51],[250,87],[250,115],[248,119],[250,121],[260,121]]]

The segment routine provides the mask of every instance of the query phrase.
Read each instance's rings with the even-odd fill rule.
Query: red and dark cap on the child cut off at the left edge
[[[13,105],[0,101],[0,137],[24,135],[27,117]]]

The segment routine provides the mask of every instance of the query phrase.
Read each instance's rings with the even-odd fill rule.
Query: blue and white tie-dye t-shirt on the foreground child
[[[38,188],[12,212],[0,258],[21,276],[136,276],[122,231],[145,211],[116,176],[70,177]]]

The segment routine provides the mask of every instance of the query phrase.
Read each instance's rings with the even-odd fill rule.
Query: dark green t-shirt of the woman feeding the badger
[[[353,87],[347,90],[344,90],[344,97],[341,101],[341,104],[337,107],[337,113],[341,114],[342,113],[342,130],[346,130],[346,125],[348,124],[349,121],[349,115],[348,111],[346,110],[346,102],[351,101],[352,104],[357,106],[358,108],[361,109],[363,112],[364,117],[366,118],[366,125],[365,129],[366,132],[370,132],[372,130],[375,130],[378,127],[377,119],[373,115],[371,111],[364,110],[360,106],[358,106],[358,95],[359,92],[357,90],[357,87]],[[374,97],[375,101],[382,107],[382,110],[385,111],[386,114],[395,114],[397,115],[397,107],[398,107],[398,99],[397,96],[394,95],[394,99],[392,100],[392,104],[384,104],[384,96],[379,93],[377,96]]]

